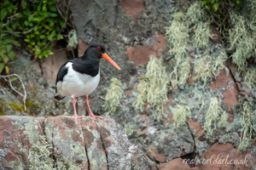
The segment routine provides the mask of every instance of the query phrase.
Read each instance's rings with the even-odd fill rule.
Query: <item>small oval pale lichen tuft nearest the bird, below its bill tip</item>
[[[105,115],[113,115],[117,107],[120,106],[120,100],[124,94],[121,86],[122,83],[119,79],[114,77],[111,79],[111,84],[105,97],[105,104],[102,105],[105,107],[105,111],[107,111]]]

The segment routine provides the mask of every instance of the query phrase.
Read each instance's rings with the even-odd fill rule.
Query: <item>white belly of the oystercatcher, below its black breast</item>
[[[57,83],[58,93],[62,96],[74,98],[91,94],[100,82],[100,69],[96,77],[90,77],[89,75],[73,71],[72,65],[72,63],[67,63],[67,75],[63,78],[63,82]]]

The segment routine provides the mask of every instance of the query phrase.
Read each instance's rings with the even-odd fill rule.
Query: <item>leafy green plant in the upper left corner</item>
[[[9,59],[15,60],[13,46],[20,47],[18,37],[24,38],[35,58],[53,54],[50,48],[62,39],[65,20],[57,8],[57,0],[29,1],[4,0],[0,5],[0,72],[8,72]]]

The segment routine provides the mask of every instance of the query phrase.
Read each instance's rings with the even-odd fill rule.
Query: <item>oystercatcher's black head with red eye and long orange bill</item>
[[[90,45],[89,48],[86,49],[84,53],[84,58],[97,58],[97,59],[106,59],[108,62],[116,67],[118,70],[121,70],[119,65],[117,65],[113,59],[111,59],[108,54],[106,53],[106,48],[102,43],[93,43]]]

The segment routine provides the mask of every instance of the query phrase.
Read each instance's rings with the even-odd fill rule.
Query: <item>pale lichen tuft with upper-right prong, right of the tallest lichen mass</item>
[[[207,54],[201,59],[195,59],[194,79],[201,80],[205,85],[212,77],[217,77],[218,73],[224,69],[223,63],[228,59],[228,56],[223,50],[217,58],[212,58],[211,55]]]

